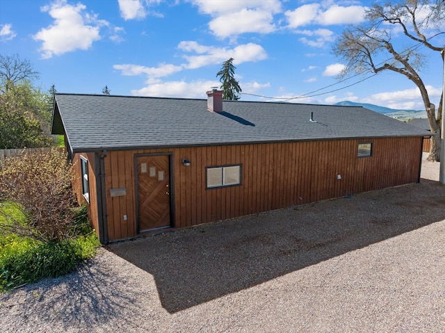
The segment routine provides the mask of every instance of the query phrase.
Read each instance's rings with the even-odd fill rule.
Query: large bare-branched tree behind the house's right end
[[[440,56],[442,51],[443,44],[433,45],[432,38],[445,33],[440,31],[445,20],[444,0],[399,0],[385,5],[376,3],[366,10],[365,18],[365,24],[345,29],[333,46],[334,54],[346,61],[341,77],[351,73],[391,71],[412,81],[421,92],[433,133],[428,160],[439,161],[444,96],[442,94],[436,111],[420,72],[422,65],[428,63],[426,54],[430,56],[436,52]],[[394,34],[402,31],[405,42],[412,42],[412,46],[407,48],[407,44],[403,44],[397,47],[392,38],[392,28],[396,29]]]

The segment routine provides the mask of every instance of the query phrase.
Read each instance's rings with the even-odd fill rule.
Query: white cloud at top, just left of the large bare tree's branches
[[[309,24],[328,26],[333,24],[357,24],[363,22],[365,8],[362,6],[323,6],[323,3],[309,3],[296,8],[286,10],[288,27],[296,29]]]

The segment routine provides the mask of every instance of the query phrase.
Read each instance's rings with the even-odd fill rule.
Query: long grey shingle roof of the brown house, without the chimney
[[[357,106],[56,94],[53,133],[73,152],[237,143],[424,136],[425,131]],[[311,113],[316,122],[310,122]]]

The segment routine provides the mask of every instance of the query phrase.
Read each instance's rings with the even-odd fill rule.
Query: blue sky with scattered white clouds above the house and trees
[[[280,101],[309,94],[292,101],[349,100],[421,110],[419,90],[400,74],[338,83],[343,64],[332,54],[332,43],[348,24],[361,23],[370,5],[310,0],[1,0],[0,53],[30,60],[40,72],[38,86],[47,90],[54,84],[58,92],[101,94],[108,86],[112,95],[206,98],[205,91],[220,84],[216,73],[221,64],[232,57],[245,93],[242,100]],[[442,36],[433,40],[435,45],[445,44]],[[400,43],[414,44],[402,38]],[[421,76],[437,105],[442,61],[432,51],[426,59]]]

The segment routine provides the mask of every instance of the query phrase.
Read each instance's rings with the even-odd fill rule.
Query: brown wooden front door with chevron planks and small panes
[[[170,227],[170,156],[138,156],[138,230]]]

